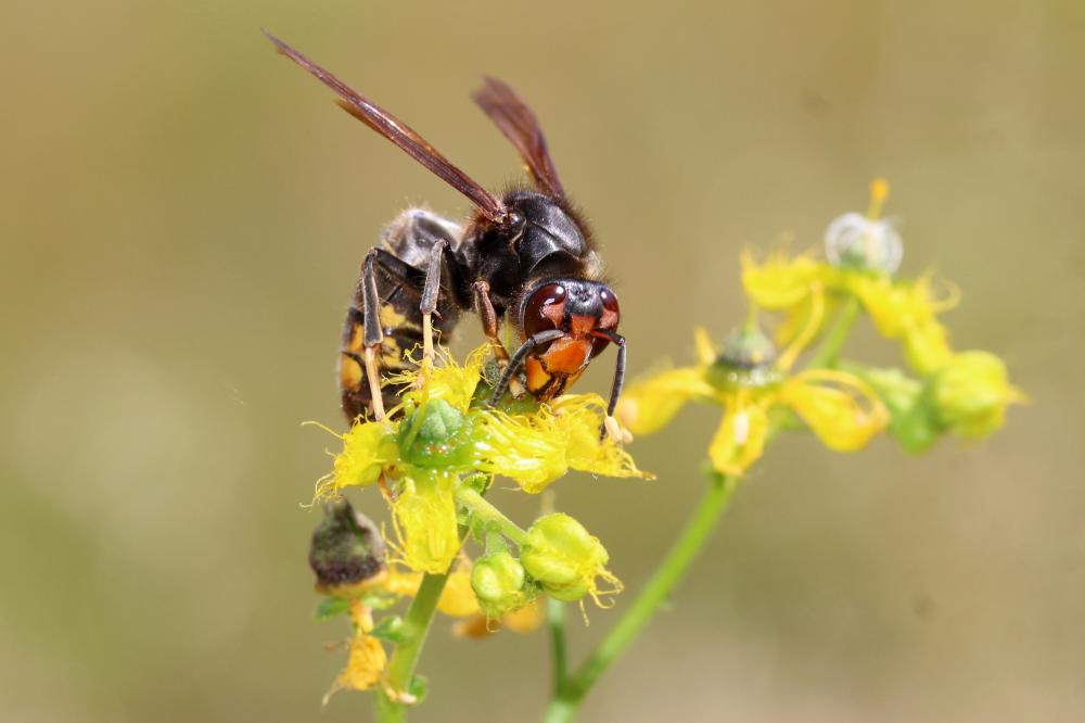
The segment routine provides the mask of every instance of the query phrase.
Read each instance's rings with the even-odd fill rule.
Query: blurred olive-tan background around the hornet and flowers
[[[586,720],[1085,715],[1080,2],[9,0],[0,719],[369,720],[365,696],[319,705],[345,630],[312,622],[299,503],[331,440],[298,423],[340,423],[340,325],[382,224],[465,203],[260,26],[490,186],[518,162],[468,92],[520,89],[603,242],[635,375],[741,318],[744,244],[816,245],[883,175],[905,272],[957,281],[956,344],[1032,396],[922,458],[776,445]],[[868,329],[851,352],[894,353]],[[698,497],[716,414],[636,443],[655,482],[557,485],[629,588],[574,652]],[[548,670],[542,635],[442,625],[416,720],[535,720]]]

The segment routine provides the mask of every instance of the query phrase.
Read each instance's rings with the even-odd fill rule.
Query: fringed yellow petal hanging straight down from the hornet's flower
[[[392,503],[399,551],[410,569],[441,574],[460,549],[452,499],[457,478],[435,470],[418,471],[404,478]]]

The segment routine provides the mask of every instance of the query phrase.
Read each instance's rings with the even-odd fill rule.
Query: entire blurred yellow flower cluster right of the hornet
[[[761,457],[773,420],[790,410],[830,449],[852,452],[889,426],[911,451],[921,451],[943,431],[966,437],[990,434],[1001,426],[1007,405],[1023,394],[1007,380],[1000,359],[984,352],[956,353],[939,315],[958,302],[955,287],[936,292],[929,274],[894,276],[903,255],[901,237],[880,218],[889,186],[876,180],[866,216],[844,214],[826,233],[828,261],[813,253],[773,253],[761,262],[742,255],[742,284],[755,318],[757,309],[777,312],[776,358],[755,321],[733,334],[717,353],[698,333],[699,364],[655,375],[625,394],[618,417],[634,433],[653,432],[687,401],[712,402],[724,419],[709,449],[715,469],[741,474]],[[922,382],[897,370],[821,359],[833,368],[791,373],[799,354],[822,335],[829,322],[850,328],[865,312],[875,329],[897,340],[911,370]],[[826,339],[839,344],[842,339]],[[892,413],[892,416],[891,416]],[[774,417],[775,415],[775,417]]]

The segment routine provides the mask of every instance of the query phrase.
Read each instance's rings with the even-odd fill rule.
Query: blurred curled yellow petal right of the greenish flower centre
[[[830,449],[860,449],[889,423],[890,415],[873,389],[854,375],[810,369],[780,389],[791,407]]]

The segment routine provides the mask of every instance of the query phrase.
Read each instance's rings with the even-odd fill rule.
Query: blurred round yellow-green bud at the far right
[[[963,352],[927,382],[927,402],[941,427],[965,439],[981,439],[1006,421],[1006,407],[1025,401],[1011,386],[1006,365],[987,352]]]

